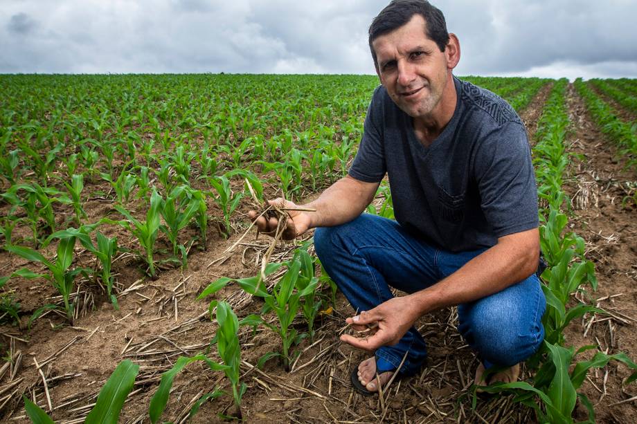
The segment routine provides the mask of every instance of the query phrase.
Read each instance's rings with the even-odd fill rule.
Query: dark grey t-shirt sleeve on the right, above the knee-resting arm
[[[481,208],[496,237],[537,228],[537,185],[523,125],[505,122],[489,131],[474,157]]]

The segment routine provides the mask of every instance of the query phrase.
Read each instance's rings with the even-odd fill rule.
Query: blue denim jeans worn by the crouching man
[[[369,311],[393,295],[390,286],[414,293],[454,273],[485,249],[446,252],[408,234],[396,221],[362,214],[336,227],[316,228],[314,246],[321,264],[357,311]],[[541,317],[546,300],[539,279],[523,281],[475,302],[458,305],[458,330],[486,368],[526,360],[544,340]],[[377,370],[415,374],[427,357],[412,327],[395,346],[376,351]]]

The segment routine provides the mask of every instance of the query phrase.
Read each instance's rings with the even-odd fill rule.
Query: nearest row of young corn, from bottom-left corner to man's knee
[[[246,385],[241,381],[241,348],[239,332],[241,326],[251,326],[256,329],[264,326],[268,331],[272,331],[280,337],[282,350],[278,352],[266,353],[258,362],[258,367],[262,367],[264,362],[271,358],[281,359],[285,369],[289,371],[291,360],[296,358],[300,352],[293,353],[290,349],[303,338],[314,338],[314,320],[323,305],[323,298],[317,293],[319,278],[316,277],[316,259],[312,259],[307,252],[307,246],[298,248],[294,257],[284,263],[269,264],[265,275],[273,275],[280,267],[285,267],[282,273],[273,284],[266,284],[260,275],[244,279],[230,279],[222,277],[207,286],[202,291],[198,299],[205,299],[209,295],[214,295],[221,288],[229,283],[238,284],[244,291],[264,300],[264,306],[260,314],[247,315],[242,320],[232,310],[231,306],[224,301],[217,299],[210,302],[210,319],[217,323],[217,332],[213,340],[210,340],[210,347],[216,346],[216,357],[220,361],[210,358],[210,349],[198,353],[194,356],[180,357],[173,367],[165,371],[161,376],[159,387],[157,387],[148,409],[148,416],[152,423],[161,420],[161,416],[168,403],[170,390],[174,379],[179,373],[192,362],[203,362],[210,371],[222,371],[226,376],[229,385],[229,394],[232,396],[236,412],[232,416],[225,418],[242,418],[241,399],[246,391]],[[333,287],[333,282],[329,279],[322,279],[325,284]],[[276,315],[274,323],[264,319],[273,312]],[[297,315],[303,316],[307,325],[307,333],[299,333],[293,322]],[[116,423],[118,422],[120,411],[127,394],[132,389],[135,376],[138,372],[138,365],[130,361],[121,363],[114,371],[105,387],[100,391],[96,407],[87,416],[87,423]],[[208,400],[213,400],[224,396],[226,392],[222,387],[215,387],[213,391],[201,396],[190,411],[190,416],[194,416],[201,405]],[[41,408],[33,402],[24,398],[26,412],[34,423],[53,423],[51,418]],[[98,419],[100,421],[92,421]]]

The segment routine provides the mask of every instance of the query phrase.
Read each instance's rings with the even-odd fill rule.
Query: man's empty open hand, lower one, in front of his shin
[[[355,328],[367,326],[371,329],[366,338],[355,338],[349,334],[341,335],[341,342],[351,344],[358,349],[375,351],[381,346],[397,344],[420,317],[409,296],[394,297],[379,304],[370,311],[363,311],[355,317],[348,317],[346,322]]]

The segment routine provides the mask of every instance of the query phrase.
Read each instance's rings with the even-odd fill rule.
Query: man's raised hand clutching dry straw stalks
[[[294,239],[309,229],[309,215],[313,209],[300,207],[282,198],[267,201],[260,211],[251,210],[248,216],[255,221],[259,232],[276,237],[282,232],[282,239]]]

